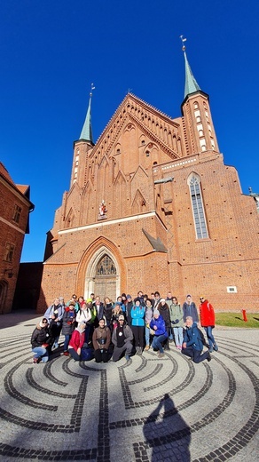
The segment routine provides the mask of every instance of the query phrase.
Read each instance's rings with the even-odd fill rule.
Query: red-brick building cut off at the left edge
[[[16,185],[0,163],[0,314],[12,311],[24,236],[29,232],[29,186]]]

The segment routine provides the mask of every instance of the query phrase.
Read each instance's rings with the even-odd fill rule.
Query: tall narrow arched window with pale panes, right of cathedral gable
[[[200,178],[197,175],[192,174],[192,177],[188,182],[190,187],[196,237],[197,239],[203,239],[208,237],[208,230],[200,191]]]

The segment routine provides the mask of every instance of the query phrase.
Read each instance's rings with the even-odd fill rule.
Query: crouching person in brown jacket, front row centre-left
[[[92,345],[94,347],[94,357],[96,362],[108,362],[109,353],[108,349],[111,343],[111,331],[105,325],[105,320],[99,320],[98,327],[92,334]]]

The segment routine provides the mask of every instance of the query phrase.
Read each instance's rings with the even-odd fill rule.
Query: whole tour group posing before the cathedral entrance
[[[75,361],[95,358],[96,362],[119,361],[125,355],[126,361],[132,354],[143,354],[150,347],[164,356],[169,344],[192,358],[193,362],[211,360],[213,351],[218,350],[213,336],[215,312],[208,299],[200,297],[200,320],[192,296],[186,296],[183,307],[177,297],[168,292],[162,298],[159,291],[150,297],[142,291],[132,299],[122,293],[116,302],[92,293],[90,299],[74,294],[65,304],[62,297],[54,299],[43,319],[33,331],[31,344],[34,362],[47,362],[51,351],[59,347],[60,333],[64,335],[64,351]],[[207,334],[208,350],[202,352],[204,336]]]

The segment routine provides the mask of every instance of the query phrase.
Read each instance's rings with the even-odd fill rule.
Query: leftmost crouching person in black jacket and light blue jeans
[[[35,327],[31,336],[32,351],[35,353],[33,362],[47,362],[49,359],[48,347],[51,346],[51,336],[47,318],[43,318]]]

